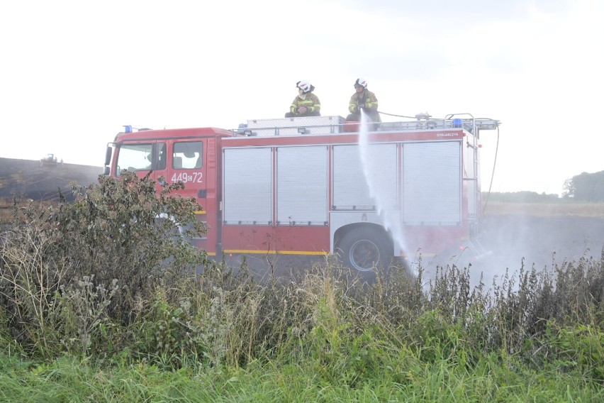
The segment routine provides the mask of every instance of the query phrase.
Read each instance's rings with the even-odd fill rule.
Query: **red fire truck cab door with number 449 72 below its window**
[[[191,240],[197,248],[206,250],[208,255],[216,253],[216,208],[215,197],[208,197],[207,138],[179,139],[171,142],[170,163],[166,179],[170,183],[183,182],[182,197],[196,199],[201,210],[195,214],[206,225],[207,233]],[[213,218],[213,219],[212,219]]]

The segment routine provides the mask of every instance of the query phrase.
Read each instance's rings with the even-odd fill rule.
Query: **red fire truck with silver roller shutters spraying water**
[[[499,124],[419,114],[369,125],[318,116],[232,130],[125,126],[105,173],[184,182],[208,228],[192,242],[208,255],[335,253],[368,272],[479,244],[480,132]]]

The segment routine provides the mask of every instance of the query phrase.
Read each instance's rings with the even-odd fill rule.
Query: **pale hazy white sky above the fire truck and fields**
[[[604,170],[603,21],[601,0],[2,1],[0,157],[101,166],[122,125],[280,118],[301,79],[346,116],[364,77],[388,114],[502,121],[493,191],[559,194]]]

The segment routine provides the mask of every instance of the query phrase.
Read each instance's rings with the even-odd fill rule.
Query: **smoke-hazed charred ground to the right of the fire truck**
[[[491,285],[493,280],[526,268],[551,270],[556,264],[581,258],[602,257],[604,248],[604,205],[489,206],[481,220],[483,247],[479,258],[456,258],[451,263],[472,263],[471,279]]]

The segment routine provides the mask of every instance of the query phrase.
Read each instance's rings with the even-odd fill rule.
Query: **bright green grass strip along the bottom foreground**
[[[99,368],[60,358],[47,364],[0,355],[2,402],[598,402],[602,385],[581,373],[537,372],[488,355],[469,371],[451,360],[426,363],[405,348],[384,350],[395,366],[350,385],[341,368],[274,360],[246,368],[160,370],[144,363]],[[335,371],[337,370],[337,371]],[[335,371],[335,372],[334,372]],[[331,372],[331,373],[330,373]],[[337,375],[337,374],[340,375]],[[328,375],[329,374],[329,375]],[[326,376],[327,375],[327,376]],[[334,376],[335,375],[335,376]]]

